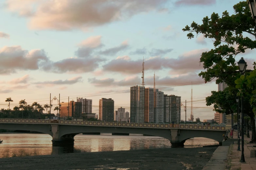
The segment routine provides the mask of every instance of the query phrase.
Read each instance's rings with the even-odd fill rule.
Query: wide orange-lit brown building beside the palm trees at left
[[[82,117],[82,102],[62,102],[60,106],[60,117]]]

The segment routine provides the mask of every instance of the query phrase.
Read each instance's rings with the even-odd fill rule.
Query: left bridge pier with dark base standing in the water
[[[62,145],[74,145],[74,136],[77,134],[67,134],[60,136],[60,126],[51,125],[52,130],[52,145],[62,146]]]

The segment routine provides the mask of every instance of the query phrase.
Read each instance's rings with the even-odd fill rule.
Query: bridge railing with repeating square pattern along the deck
[[[157,124],[157,123],[127,123],[127,122],[103,122],[103,121],[77,121],[77,120],[42,120],[42,119],[0,119],[0,123],[17,124],[57,124],[73,126],[105,126],[126,128],[152,128],[152,129],[187,129],[187,130],[210,130],[223,131],[225,126],[207,126],[198,124]]]

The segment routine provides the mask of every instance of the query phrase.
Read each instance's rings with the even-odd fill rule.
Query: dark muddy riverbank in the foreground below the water
[[[2,158],[0,169],[201,170],[217,147],[86,152]]]

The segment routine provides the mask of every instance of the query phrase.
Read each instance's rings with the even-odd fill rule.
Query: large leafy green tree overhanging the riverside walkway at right
[[[188,25],[182,29],[183,31],[189,32],[187,34],[188,38],[194,38],[194,33],[196,35],[202,34],[205,38],[210,38],[213,41],[214,49],[203,52],[200,58],[200,63],[203,64],[205,71],[199,73],[199,76],[205,80],[205,83],[212,81],[216,78],[216,84],[225,82],[228,84],[228,92],[223,94],[223,97],[229,98],[229,96],[240,95],[239,90],[243,89],[242,92],[244,96],[244,106],[245,113],[251,118],[252,127],[252,139],[251,142],[256,142],[256,131],[255,131],[255,120],[253,106],[250,106],[251,100],[253,100],[253,89],[246,88],[245,86],[240,86],[236,88],[236,83],[250,84],[247,79],[243,79],[242,82],[236,82],[240,78],[240,72],[238,66],[235,64],[235,56],[244,53],[246,49],[256,48],[256,41],[251,40],[244,35],[249,34],[256,37],[255,22],[251,17],[249,7],[247,2],[239,2],[233,6],[234,13],[230,15],[227,11],[222,13],[220,17],[218,14],[213,13],[211,18],[203,18],[203,23],[201,25],[195,23]],[[233,47],[233,46],[237,47]],[[248,73],[246,73],[248,76]],[[242,77],[243,78],[243,77]],[[247,82],[246,82],[247,81]],[[239,90],[238,90],[239,89]],[[228,103],[235,105],[235,99],[229,98],[230,101],[225,100],[223,104],[219,102],[217,95],[219,92],[215,92],[215,99],[210,101],[210,103],[216,105],[215,108],[220,108],[223,110],[231,111]],[[256,91],[255,91],[256,94]],[[222,94],[220,94],[221,96]],[[226,96],[228,95],[228,96]],[[214,98],[214,97],[213,97]],[[256,98],[256,97],[255,97]],[[218,109],[220,111],[220,109]],[[256,111],[256,109],[255,109]],[[227,112],[225,112],[228,114]]]

